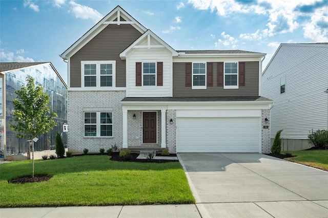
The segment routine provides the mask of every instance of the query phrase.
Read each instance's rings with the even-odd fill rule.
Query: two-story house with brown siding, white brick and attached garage
[[[270,150],[260,97],[265,54],[176,51],[117,6],[60,55],[68,63],[68,147],[98,152]]]

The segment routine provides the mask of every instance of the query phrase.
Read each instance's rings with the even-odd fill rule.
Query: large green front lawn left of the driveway
[[[178,162],[116,162],[108,156],[81,156],[39,160],[34,166],[35,175],[53,177],[40,183],[9,184],[10,179],[30,175],[32,163],[0,165],[0,207],[195,203]]]

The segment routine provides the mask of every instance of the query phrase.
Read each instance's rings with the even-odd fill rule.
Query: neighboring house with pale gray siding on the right
[[[282,43],[262,74],[262,96],[275,101],[271,140],[279,129],[283,150],[300,150],[310,130],[327,129],[328,43]]]

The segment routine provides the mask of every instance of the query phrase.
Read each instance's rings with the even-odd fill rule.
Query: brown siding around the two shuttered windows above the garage
[[[186,63],[173,63],[173,97],[238,97],[238,96],[258,96],[258,71],[259,62],[245,63],[245,86],[239,89],[223,89],[217,84],[207,87],[206,90],[192,90],[185,86]],[[217,72],[217,64],[213,64],[213,72]],[[217,81],[217,74],[213,74],[213,81]]]

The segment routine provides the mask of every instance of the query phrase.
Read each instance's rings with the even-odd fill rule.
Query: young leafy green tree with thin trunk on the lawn
[[[43,92],[40,84],[34,84],[34,78],[26,79],[27,85],[16,90],[17,98],[13,100],[13,120],[10,120],[10,128],[17,138],[26,140],[34,139],[40,134],[47,133],[55,125],[54,117],[57,114],[50,112],[48,106],[50,96]],[[32,178],[34,179],[34,141],[32,145]]]

